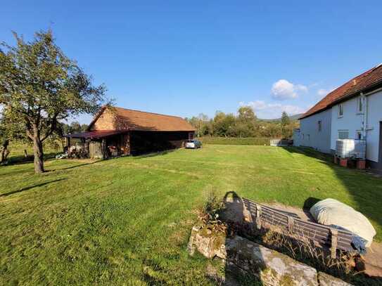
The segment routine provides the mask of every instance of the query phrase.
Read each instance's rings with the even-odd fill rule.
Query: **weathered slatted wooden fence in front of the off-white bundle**
[[[243,198],[243,203],[246,212],[250,215],[250,220],[258,229],[269,228],[269,226],[281,227],[293,235],[293,238],[309,239],[321,246],[330,247],[332,258],[336,258],[337,249],[350,253],[355,252],[351,245],[352,233],[347,230],[304,221],[245,198]]]

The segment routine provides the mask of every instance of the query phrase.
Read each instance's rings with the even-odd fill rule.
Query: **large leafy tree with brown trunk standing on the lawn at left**
[[[91,84],[91,77],[56,45],[51,30],[37,32],[28,42],[13,35],[16,45],[3,43],[0,50],[0,117],[8,129],[3,133],[29,138],[35,170],[42,172],[42,142],[58,131],[60,121],[96,112],[106,88]]]

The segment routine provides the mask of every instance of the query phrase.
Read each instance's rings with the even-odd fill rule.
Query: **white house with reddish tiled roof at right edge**
[[[295,145],[333,153],[338,138],[365,139],[367,163],[382,169],[382,65],[350,79],[305,112],[293,139]]]

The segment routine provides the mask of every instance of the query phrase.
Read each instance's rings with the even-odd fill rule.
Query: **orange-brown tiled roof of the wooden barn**
[[[101,113],[94,118],[89,128]],[[137,131],[195,131],[193,126],[182,117],[171,115],[160,115],[158,113],[143,112],[125,108],[112,107],[110,111],[115,117],[115,129],[117,130],[137,130]]]

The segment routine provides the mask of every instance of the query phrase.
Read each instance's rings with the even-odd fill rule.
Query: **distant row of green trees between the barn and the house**
[[[200,113],[186,120],[196,129],[198,137],[292,138],[293,129],[299,126],[286,112],[282,112],[281,119],[258,119],[250,106],[238,108],[237,115],[217,111],[213,118]]]

